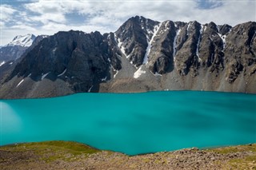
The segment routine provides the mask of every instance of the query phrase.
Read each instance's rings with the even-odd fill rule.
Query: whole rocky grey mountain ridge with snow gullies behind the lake
[[[110,34],[58,32],[24,54],[2,82],[0,97],[165,89],[256,93],[255,31],[256,22],[231,27],[136,16]]]

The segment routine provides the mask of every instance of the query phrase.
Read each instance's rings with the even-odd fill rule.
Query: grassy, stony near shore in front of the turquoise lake
[[[256,144],[139,156],[70,141],[13,144],[0,147],[0,169],[256,169]]]

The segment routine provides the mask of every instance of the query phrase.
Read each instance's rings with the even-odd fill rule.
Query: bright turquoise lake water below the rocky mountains
[[[256,95],[78,93],[0,100],[1,145],[73,140],[129,155],[256,142]]]

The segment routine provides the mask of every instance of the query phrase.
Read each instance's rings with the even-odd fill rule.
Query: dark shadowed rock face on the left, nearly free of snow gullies
[[[53,81],[61,78],[68,82],[75,92],[88,91],[107,75],[108,55],[108,44],[99,32],[58,32],[38,42],[18,63],[9,80],[31,73],[30,77],[39,81],[48,73]]]

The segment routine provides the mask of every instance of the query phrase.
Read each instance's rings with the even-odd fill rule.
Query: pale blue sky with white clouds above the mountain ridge
[[[198,21],[230,24],[256,21],[255,0],[0,0],[1,44],[19,34],[55,34],[59,30],[114,32],[140,15],[159,22]]]

